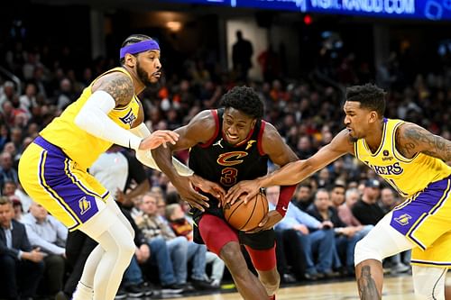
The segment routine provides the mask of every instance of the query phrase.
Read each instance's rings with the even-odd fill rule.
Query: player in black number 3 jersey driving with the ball
[[[251,87],[234,87],[223,95],[221,106],[200,112],[188,125],[177,129],[179,140],[174,145],[152,150],[153,159],[176,188],[187,179],[172,167],[171,151],[190,149],[189,168],[224,189],[240,180],[266,174],[268,159],[280,166],[297,159],[272,124],[262,121],[262,100]],[[226,262],[238,292],[246,300],[275,299],[280,276],[272,226],[285,214],[294,189],[295,186],[282,186],[277,209],[266,215],[267,225],[260,232],[244,233],[231,228],[224,220],[220,202],[211,195],[208,204],[203,201],[193,205],[195,241],[203,240]],[[260,281],[246,268],[240,244],[249,252]]]

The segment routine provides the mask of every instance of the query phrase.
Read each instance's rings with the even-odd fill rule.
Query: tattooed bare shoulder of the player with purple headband
[[[134,94],[132,79],[123,74],[106,78],[100,88],[115,98],[116,105],[127,105]]]

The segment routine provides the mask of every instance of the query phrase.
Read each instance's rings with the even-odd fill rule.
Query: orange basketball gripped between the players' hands
[[[244,205],[244,197],[238,198],[234,205],[223,207],[226,222],[239,231],[247,232],[255,229],[268,214],[266,195],[259,193]]]

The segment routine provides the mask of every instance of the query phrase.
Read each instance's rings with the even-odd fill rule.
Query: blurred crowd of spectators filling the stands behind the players
[[[79,268],[79,258],[70,258],[66,251],[68,232],[23,192],[17,163],[38,132],[116,62],[95,59],[74,63],[69,48],[51,53],[47,47],[25,47],[21,42],[2,54],[0,67],[7,72],[0,73],[0,223],[4,228],[12,219],[14,228],[23,224],[27,241],[7,246],[27,253],[21,260],[32,264],[20,267],[32,269],[31,279],[16,284],[23,298],[60,294],[60,299],[69,299],[68,278],[77,273],[74,269]],[[275,125],[299,159],[306,159],[343,128],[345,86],[373,81],[388,92],[386,117],[418,123],[451,140],[451,68],[445,64],[440,70],[420,74],[411,64],[401,63],[397,53],[374,71],[356,63],[352,53],[326,61],[304,77],[287,78],[278,73],[272,74],[271,81],[255,82],[214,62],[187,59],[182,68],[168,70],[159,85],[140,95],[146,123],[153,130],[176,129],[199,111],[216,108],[221,95],[232,86],[245,84],[261,95],[266,107],[264,119]],[[118,298],[219,289],[222,281],[231,278],[216,255],[192,242],[188,207],[168,178],[137,164],[127,150],[110,150],[106,155],[117,153],[129,171],[119,191],[111,192],[125,214],[130,214],[140,237],[134,265],[127,270],[128,276],[125,273]],[[177,153],[177,157],[186,161],[188,153]],[[101,168],[104,172],[108,164],[105,166]],[[132,176],[136,168],[143,169],[143,176]],[[278,193],[277,186],[268,188],[272,205]],[[400,201],[390,186],[384,186],[371,169],[350,156],[300,183],[290,204],[290,218],[275,228],[282,282],[352,276],[355,243]],[[9,206],[14,209],[11,214]],[[75,252],[80,254],[81,250]],[[8,251],[0,252],[2,268],[10,266],[5,265],[8,255],[12,256]],[[406,272],[409,260],[409,253],[403,253],[387,259],[384,266],[387,272]],[[6,290],[5,286],[0,288]]]

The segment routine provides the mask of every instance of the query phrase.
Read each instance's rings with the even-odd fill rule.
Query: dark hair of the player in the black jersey
[[[264,106],[262,99],[252,87],[235,86],[221,98],[221,106],[235,108],[255,119],[262,119]]]

